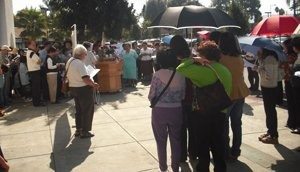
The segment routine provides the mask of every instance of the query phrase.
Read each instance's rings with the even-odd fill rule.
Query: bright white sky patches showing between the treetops
[[[39,8],[40,5],[43,5],[42,0],[12,0],[13,1],[13,11],[16,14],[19,10],[22,10],[26,7],[33,7]],[[136,9],[137,13],[140,13],[143,5],[147,2],[147,0],[128,0],[129,3],[133,3],[134,8]],[[199,0],[204,6],[209,6],[211,1],[210,0]],[[289,10],[288,6],[285,3],[285,0],[261,0],[261,8],[260,11],[262,15],[266,15],[265,12],[269,12],[270,9],[272,14],[275,14],[275,7],[283,8],[287,11],[288,14],[292,14]]]

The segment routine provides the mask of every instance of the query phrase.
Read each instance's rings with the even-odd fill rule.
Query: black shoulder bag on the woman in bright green
[[[232,104],[218,73],[212,66],[207,66],[214,71],[218,80],[201,88],[195,86],[192,103],[193,111],[205,115],[220,112]]]

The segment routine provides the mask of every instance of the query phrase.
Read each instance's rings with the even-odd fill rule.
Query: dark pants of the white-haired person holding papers
[[[76,129],[82,129],[84,132],[91,131],[94,117],[94,96],[92,87],[71,87],[70,90],[75,100]]]

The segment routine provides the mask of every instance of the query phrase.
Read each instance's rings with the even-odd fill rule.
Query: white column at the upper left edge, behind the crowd
[[[0,46],[15,47],[15,30],[12,0],[0,0]]]

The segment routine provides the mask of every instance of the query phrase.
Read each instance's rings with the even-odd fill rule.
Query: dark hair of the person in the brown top
[[[219,48],[224,55],[239,56],[242,54],[237,38],[230,32],[220,35]]]

